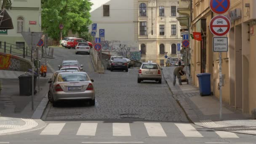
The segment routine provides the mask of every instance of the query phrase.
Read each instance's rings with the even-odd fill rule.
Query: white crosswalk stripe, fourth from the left
[[[144,123],[149,136],[166,136],[160,123]]]

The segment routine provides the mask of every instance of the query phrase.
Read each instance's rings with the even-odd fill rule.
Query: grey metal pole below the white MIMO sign
[[[219,52],[219,120],[222,120],[222,57]]]

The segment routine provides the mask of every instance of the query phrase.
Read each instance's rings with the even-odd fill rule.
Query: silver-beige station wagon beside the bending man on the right
[[[142,63],[138,74],[138,83],[142,80],[155,80],[162,83],[161,68],[156,63]]]

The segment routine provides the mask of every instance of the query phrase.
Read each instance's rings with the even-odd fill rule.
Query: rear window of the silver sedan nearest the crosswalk
[[[78,82],[88,80],[89,78],[86,74],[60,74],[58,77],[58,82]]]

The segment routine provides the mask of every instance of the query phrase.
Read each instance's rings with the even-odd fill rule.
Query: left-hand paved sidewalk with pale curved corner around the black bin
[[[46,124],[40,120],[43,106],[46,106],[48,78],[40,77],[40,91],[34,95],[34,110],[32,111],[31,96],[19,95],[19,75],[24,72],[0,70],[0,135],[34,131],[43,128]],[[38,83],[37,83],[38,84]],[[47,102],[45,101],[45,96]],[[43,101],[42,101],[43,100]]]

